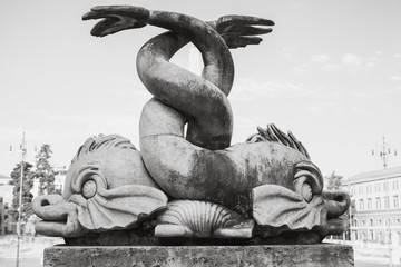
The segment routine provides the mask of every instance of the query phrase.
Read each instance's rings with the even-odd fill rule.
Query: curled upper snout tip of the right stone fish
[[[327,219],[336,218],[344,214],[350,205],[350,196],[344,191],[323,191],[322,192],[325,208],[327,210]]]

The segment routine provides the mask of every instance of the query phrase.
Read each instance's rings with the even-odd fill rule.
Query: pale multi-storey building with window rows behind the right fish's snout
[[[355,204],[352,239],[401,244],[401,167],[342,180]]]

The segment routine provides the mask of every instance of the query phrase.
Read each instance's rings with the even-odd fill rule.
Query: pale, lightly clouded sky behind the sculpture
[[[401,166],[401,2],[397,0],[0,1],[0,174],[49,144],[53,166],[69,166],[84,141],[118,134],[139,149],[138,121],[150,93],[136,73],[140,47],[163,29],[90,36],[81,16],[100,4],[135,4],[211,21],[225,14],[273,20],[258,46],[232,50],[228,99],[233,144],[275,123],[291,130],[323,175],[382,167],[382,138]],[[188,68],[189,49],[173,61]],[[13,152],[10,154],[10,146]],[[372,156],[372,149],[375,155]]]

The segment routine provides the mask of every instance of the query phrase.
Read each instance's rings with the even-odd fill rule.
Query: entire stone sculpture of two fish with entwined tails
[[[268,125],[231,146],[229,49],[258,44],[273,21],[225,16],[204,22],[130,6],[95,7],[82,19],[102,19],[91,31],[97,37],[147,24],[169,31],[137,56],[139,78],[154,96],[140,117],[140,152],[119,136],[88,139],[71,162],[63,196],[33,200],[43,219],[38,233],[66,240],[139,233],[128,244],[170,237],[311,244],[344,230],[339,216],[349,196],[323,191],[319,168],[291,132]],[[202,77],[169,62],[188,42],[202,52]]]

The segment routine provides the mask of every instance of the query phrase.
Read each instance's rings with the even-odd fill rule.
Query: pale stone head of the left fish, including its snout
[[[134,145],[117,135],[100,135],[78,149],[63,196],[38,196],[32,209],[43,219],[36,225],[38,234],[79,237],[87,231],[129,228],[166,205],[167,196]]]

